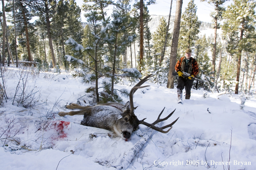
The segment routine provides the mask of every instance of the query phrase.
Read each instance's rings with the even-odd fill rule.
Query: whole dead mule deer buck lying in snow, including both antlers
[[[69,106],[66,106],[68,109],[82,109],[80,111],[72,112],[59,112],[60,116],[65,115],[84,115],[84,119],[81,121],[82,125],[98,127],[114,132],[116,135],[122,137],[124,140],[128,140],[131,137],[131,133],[136,131],[139,127],[139,124],[144,124],[156,131],[161,133],[167,133],[172,129],[172,125],[178,120],[178,118],[173,121],[171,124],[165,125],[163,127],[156,127],[155,124],[167,120],[174,113],[170,113],[165,118],[160,118],[164,109],[159,114],[156,121],[153,123],[147,123],[144,120],[138,120],[137,116],[134,114],[134,110],[137,107],[134,107],[133,104],[133,94],[137,91],[138,88],[145,88],[146,86],[141,86],[144,82],[148,80],[151,75],[146,76],[144,79],[135,85],[130,91],[130,102],[128,101],[125,105],[120,103],[104,103],[98,104],[96,106],[79,106],[78,104],[72,103]],[[164,131],[165,128],[170,127],[167,131]]]

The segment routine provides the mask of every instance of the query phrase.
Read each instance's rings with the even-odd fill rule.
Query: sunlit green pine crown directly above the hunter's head
[[[185,12],[181,16],[181,30],[179,36],[179,46],[181,53],[187,48],[192,48],[195,41],[198,39],[198,33],[200,32],[201,22],[197,17],[197,6],[194,0],[190,0],[185,8]]]

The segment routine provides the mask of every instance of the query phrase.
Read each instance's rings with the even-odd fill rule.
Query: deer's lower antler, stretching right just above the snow
[[[162,109],[162,112],[164,111],[164,109],[165,109],[165,107]],[[175,109],[175,110],[176,110],[176,109]],[[146,125],[147,127],[150,127],[151,129],[154,129],[154,130],[156,130],[156,131],[159,131],[159,132],[161,132],[161,133],[166,134],[166,133],[168,133],[168,132],[172,129],[172,125],[175,124],[175,122],[176,122],[176,121],[178,120],[178,118],[180,118],[180,117],[178,117],[178,118],[177,118],[175,121],[173,121],[171,124],[165,125],[165,126],[163,126],[163,127],[156,127],[155,124],[157,124],[157,123],[159,123],[159,122],[161,122],[161,121],[167,120],[169,117],[171,117],[171,115],[175,112],[175,110],[174,110],[173,112],[171,112],[171,113],[170,113],[168,116],[166,116],[165,118],[160,118],[160,116],[162,115],[162,112],[161,112],[161,113],[159,114],[158,118],[156,119],[156,121],[154,121],[154,122],[151,123],[151,124],[144,121],[146,118],[144,118],[143,120],[141,120],[139,124],[144,124],[144,125]],[[171,127],[171,128],[169,128],[167,131],[164,131],[164,129],[167,128],[167,127]]]

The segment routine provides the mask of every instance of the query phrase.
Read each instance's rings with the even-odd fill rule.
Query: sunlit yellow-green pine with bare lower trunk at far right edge
[[[225,19],[223,25],[223,33],[231,35],[232,39],[235,36],[239,36],[239,41],[234,49],[234,53],[237,55],[237,77],[235,94],[238,94],[239,81],[240,81],[240,68],[241,68],[241,57],[242,51],[244,50],[244,43],[247,43],[248,37],[244,37],[245,33],[250,33],[255,30],[254,24],[256,21],[255,15],[256,2],[253,0],[234,0],[234,4],[228,6],[228,9],[224,12],[223,18]],[[231,33],[231,34],[230,34]],[[239,33],[239,34],[235,34]],[[230,37],[230,36],[229,36]]]

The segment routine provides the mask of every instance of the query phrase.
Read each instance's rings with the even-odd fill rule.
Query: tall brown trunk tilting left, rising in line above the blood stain
[[[49,18],[49,9],[47,4],[45,4],[45,9],[46,9],[46,27],[47,27],[47,35],[48,35],[48,41],[49,41],[49,47],[50,47],[50,52],[52,55],[52,61],[53,61],[53,68],[56,67],[56,59],[54,55],[54,50],[53,50],[53,40],[51,36],[51,30],[50,30],[50,18]]]

